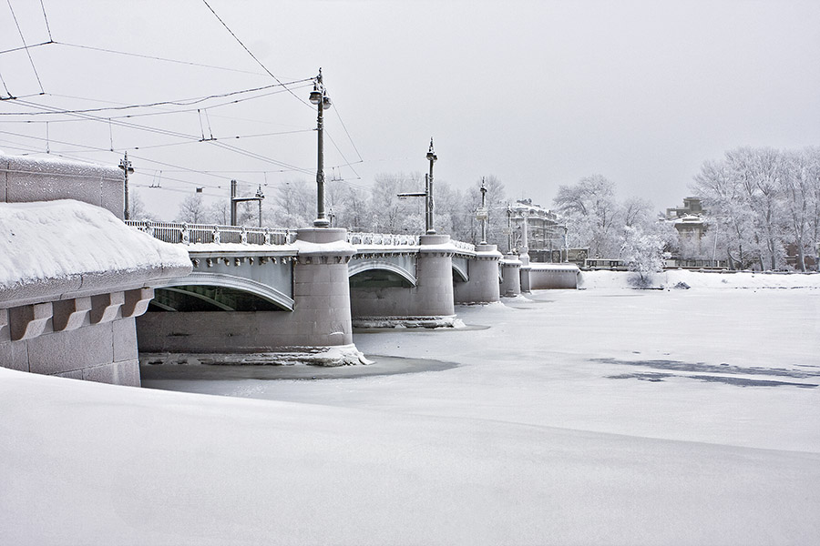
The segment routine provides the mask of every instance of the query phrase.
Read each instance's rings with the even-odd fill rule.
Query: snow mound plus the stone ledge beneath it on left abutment
[[[0,203],[0,256],[0,306],[150,286],[190,272],[186,248],[69,199]]]

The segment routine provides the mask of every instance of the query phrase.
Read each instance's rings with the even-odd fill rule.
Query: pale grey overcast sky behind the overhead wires
[[[646,197],[660,210],[681,203],[702,162],[727,149],[820,145],[815,0],[208,3],[280,81],[323,67],[334,103],[327,176],[343,178],[332,184],[370,187],[378,173],[423,173],[434,136],[436,180],[454,187],[495,175],[507,197],[548,207],[559,185],[600,174],[620,197]],[[30,48],[30,60],[26,51],[0,56],[12,95],[46,93],[0,102],[0,113],[276,84],[202,0],[43,0],[47,27],[39,0],[11,5],[26,44],[48,41],[49,30],[57,43]],[[20,45],[0,5],[0,48]],[[195,187],[209,200],[226,198],[231,177],[245,189],[267,184],[268,193],[313,181],[315,110],[302,102],[310,84],[291,88],[189,106],[2,116],[0,149],[45,155],[47,146],[118,164],[128,148],[139,195],[156,217],[172,217]],[[234,99],[242,101],[224,104]],[[149,112],[159,115],[118,117]],[[332,168],[346,163],[354,165]]]

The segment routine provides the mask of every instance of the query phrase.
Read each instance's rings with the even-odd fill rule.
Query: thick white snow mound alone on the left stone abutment
[[[0,203],[0,256],[0,290],[86,273],[190,268],[185,248],[69,199]]]

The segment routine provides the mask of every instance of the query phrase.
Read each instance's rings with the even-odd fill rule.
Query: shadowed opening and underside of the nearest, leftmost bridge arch
[[[154,311],[279,311],[293,310],[293,298],[250,278],[220,273],[191,273],[154,289]]]

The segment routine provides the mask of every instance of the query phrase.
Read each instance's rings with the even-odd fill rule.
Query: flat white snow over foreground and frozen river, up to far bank
[[[0,542],[814,543],[820,276],[616,276],[456,308],[486,329],[354,335],[374,366],[457,364],[418,373],[0,369]],[[735,288],[758,278],[813,288]]]

